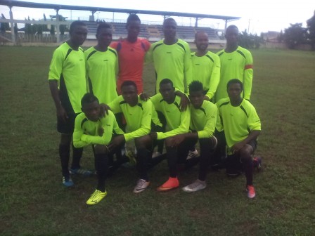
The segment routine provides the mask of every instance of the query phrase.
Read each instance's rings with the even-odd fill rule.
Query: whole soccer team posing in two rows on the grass
[[[197,51],[191,53],[189,44],[176,38],[173,18],[163,22],[165,38],[152,45],[138,37],[138,15],[129,15],[126,28],[127,38],[112,43],[110,25],[99,23],[96,46],[83,51],[87,27],[77,20],[70,25],[70,39],[53,53],[49,87],[63,185],[74,185],[72,174],[94,174],[80,166],[82,148],[91,145],[98,183],[86,204],[97,204],[107,195],[106,177],[128,159],[126,142],[134,140],[139,174],[134,193],[150,185],[148,169],[167,159],[169,176],[160,192],[178,188],[178,172],[199,162],[198,178],[184,191],[203,190],[209,166],[224,167],[229,176],[243,171],[248,197],[255,197],[253,166],[260,160],[253,153],[261,124],[249,101],[252,55],[238,46],[238,28],[227,27],[226,48],[218,53],[207,50],[205,32],[195,34]],[[155,68],[152,97],[143,91],[144,63]]]

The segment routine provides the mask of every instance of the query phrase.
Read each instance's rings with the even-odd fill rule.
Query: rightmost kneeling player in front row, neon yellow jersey
[[[257,137],[261,131],[260,119],[255,107],[241,97],[243,84],[238,79],[231,79],[227,84],[229,98],[222,98],[217,103],[228,149],[226,172],[236,173],[243,168],[246,176],[248,197],[255,197],[252,185],[252,154],[257,147]],[[241,166],[240,166],[241,165]]]

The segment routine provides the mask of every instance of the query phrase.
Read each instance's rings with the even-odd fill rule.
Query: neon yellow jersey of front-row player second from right
[[[203,100],[203,105],[200,108],[195,109],[193,105],[190,105],[190,109],[191,130],[197,131],[198,138],[212,137],[217,122],[217,106],[210,101]]]

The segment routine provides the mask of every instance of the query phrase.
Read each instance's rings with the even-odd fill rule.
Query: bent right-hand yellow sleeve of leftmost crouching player
[[[108,145],[113,136],[113,126],[115,122],[115,116],[113,112],[109,112],[106,117],[101,119],[101,127],[103,128],[103,136],[91,136],[83,134],[81,140],[89,144]]]

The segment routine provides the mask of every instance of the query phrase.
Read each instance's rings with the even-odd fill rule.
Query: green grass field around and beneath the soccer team
[[[168,176],[162,162],[152,185],[132,189],[135,169],[108,179],[108,196],[89,207],[96,179],[74,176],[61,184],[59,136],[47,74],[54,48],[0,47],[0,235],[315,235],[315,53],[252,51],[252,103],[262,120],[255,199],[246,197],[245,176],[210,172],[207,188],[155,190]],[[146,66],[149,94],[155,87]],[[91,149],[82,164],[94,168]],[[198,169],[182,172],[181,186]]]

